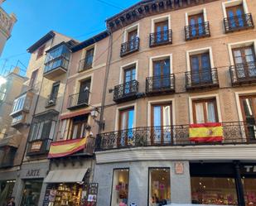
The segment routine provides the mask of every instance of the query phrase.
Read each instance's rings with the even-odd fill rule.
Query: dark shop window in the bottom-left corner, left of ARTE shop
[[[15,180],[0,181],[0,206],[6,206],[12,198],[12,189]]]

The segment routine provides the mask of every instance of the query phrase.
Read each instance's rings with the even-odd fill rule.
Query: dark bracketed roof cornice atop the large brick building
[[[144,17],[215,1],[220,0],[144,0],[110,17],[106,22],[110,31],[117,31]]]

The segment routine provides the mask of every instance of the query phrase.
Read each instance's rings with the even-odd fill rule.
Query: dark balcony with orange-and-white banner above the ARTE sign
[[[51,139],[29,141],[27,145],[27,156],[47,155],[51,141]]]

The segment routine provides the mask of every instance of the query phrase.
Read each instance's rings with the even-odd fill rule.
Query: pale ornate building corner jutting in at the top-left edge
[[[2,9],[2,2],[4,1],[0,1],[0,55],[2,54],[6,41],[11,36],[14,24],[17,22],[17,18],[13,13],[9,15]]]

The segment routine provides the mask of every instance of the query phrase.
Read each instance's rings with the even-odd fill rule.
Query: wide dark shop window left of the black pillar
[[[238,205],[234,178],[191,177],[193,204]]]

